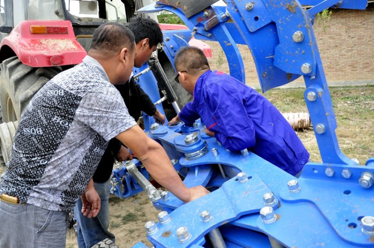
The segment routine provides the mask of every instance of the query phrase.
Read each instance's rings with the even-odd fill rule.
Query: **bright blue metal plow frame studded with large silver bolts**
[[[227,6],[210,6],[190,18],[179,8],[164,3],[142,8],[140,12],[161,10],[177,14],[188,30],[164,32],[164,51],[173,63],[179,48],[197,39],[218,41],[229,63],[230,75],[244,83],[244,66],[237,44],[251,51],[263,92],[303,76],[305,100],[314,124],[323,163],[307,163],[298,193],[290,193],[287,182],[295,179],[253,153],[243,155],[220,146],[215,138],[204,134],[203,124],[160,126],[149,132],[160,142],[175,168],[185,175],[188,187],[203,185],[211,193],[184,204],[175,196],[155,203],[169,212],[171,222],[157,224],[158,231],[149,234],[156,247],[209,247],[205,235],[218,228],[227,247],[271,247],[269,238],[286,247],[374,247],[373,237],[362,233],[360,219],[373,216],[373,188],[364,188],[359,179],[364,172],[374,174],[374,158],[360,166],[340,150],[332,101],[312,29],[314,14],[329,6],[365,9],[366,0],[301,0],[314,5],[304,10],[296,0],[226,0]],[[147,75],[147,74],[145,74]],[[141,78],[142,80],[148,80]],[[157,84],[147,82],[146,92],[157,92]],[[143,85],[142,85],[143,87]],[[154,96],[155,101],[160,96]],[[149,129],[147,129],[149,130]],[[198,141],[186,144],[186,133],[197,132]],[[190,153],[209,150],[194,160]],[[210,150],[216,148],[218,155]],[[218,169],[223,166],[224,173]],[[329,170],[334,173],[326,173]],[[352,173],[344,177],[343,170]],[[240,182],[236,174],[249,177]],[[118,180],[126,175],[120,173]],[[272,192],[276,222],[264,224],[259,211],[262,197]],[[202,222],[199,214],[208,210],[213,219]],[[176,230],[187,227],[191,238],[180,243]],[[144,247],[138,243],[135,247]]]

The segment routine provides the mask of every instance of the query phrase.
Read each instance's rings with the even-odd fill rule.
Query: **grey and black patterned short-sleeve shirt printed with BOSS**
[[[102,66],[86,56],[46,83],[26,107],[0,193],[71,211],[108,141],[134,125]]]

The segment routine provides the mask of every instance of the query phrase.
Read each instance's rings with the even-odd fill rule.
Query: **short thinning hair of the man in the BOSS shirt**
[[[105,23],[100,25],[92,35],[90,50],[101,53],[117,53],[124,47],[135,49],[135,37],[131,30],[123,24]]]

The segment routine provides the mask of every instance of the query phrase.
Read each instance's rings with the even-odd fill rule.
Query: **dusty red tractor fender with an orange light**
[[[44,33],[43,26],[46,27]],[[31,33],[31,30],[37,31]],[[23,64],[31,67],[75,65],[87,54],[76,40],[68,20],[22,21],[1,40],[0,52],[0,62],[15,53]],[[5,52],[8,54],[3,54]]]

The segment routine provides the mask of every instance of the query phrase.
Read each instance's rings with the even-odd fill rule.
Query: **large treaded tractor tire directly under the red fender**
[[[0,70],[0,106],[4,123],[19,120],[35,93],[62,71],[61,67],[30,67],[17,57],[2,61]]]

